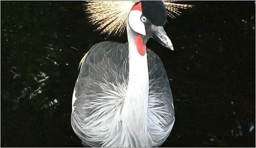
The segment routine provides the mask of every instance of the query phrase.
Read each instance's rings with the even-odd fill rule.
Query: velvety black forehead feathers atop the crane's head
[[[161,0],[142,0],[142,14],[156,26],[166,21],[166,8]]]

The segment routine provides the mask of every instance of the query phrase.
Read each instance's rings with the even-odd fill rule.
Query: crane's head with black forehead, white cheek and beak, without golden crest
[[[153,37],[163,46],[173,50],[171,40],[163,29],[166,18],[166,8],[162,1],[140,1],[132,7],[128,22],[136,33]]]

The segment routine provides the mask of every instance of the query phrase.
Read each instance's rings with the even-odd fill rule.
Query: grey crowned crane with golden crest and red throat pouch
[[[87,12],[102,33],[121,34],[128,44],[105,41],[81,60],[72,99],[71,125],[85,146],[155,147],[175,121],[173,97],[161,59],[146,48],[151,37],[173,45],[167,15],[191,5],[169,1],[91,1]]]

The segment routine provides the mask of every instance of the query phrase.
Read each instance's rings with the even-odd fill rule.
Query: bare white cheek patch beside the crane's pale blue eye
[[[146,35],[145,25],[140,20],[142,12],[139,10],[132,10],[129,14],[129,25],[137,33],[141,35]]]

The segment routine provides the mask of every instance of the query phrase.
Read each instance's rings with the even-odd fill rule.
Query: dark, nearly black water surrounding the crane
[[[162,146],[255,146],[255,1],[195,5],[165,30],[176,121]],[[70,125],[77,65],[92,45],[125,43],[87,23],[83,2],[1,1],[1,147],[80,147]]]

